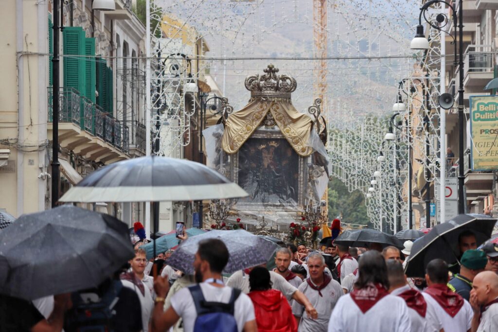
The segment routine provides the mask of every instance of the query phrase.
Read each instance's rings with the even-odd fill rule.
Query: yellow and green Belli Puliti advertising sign
[[[471,96],[469,100],[472,170],[497,170],[498,96]]]

